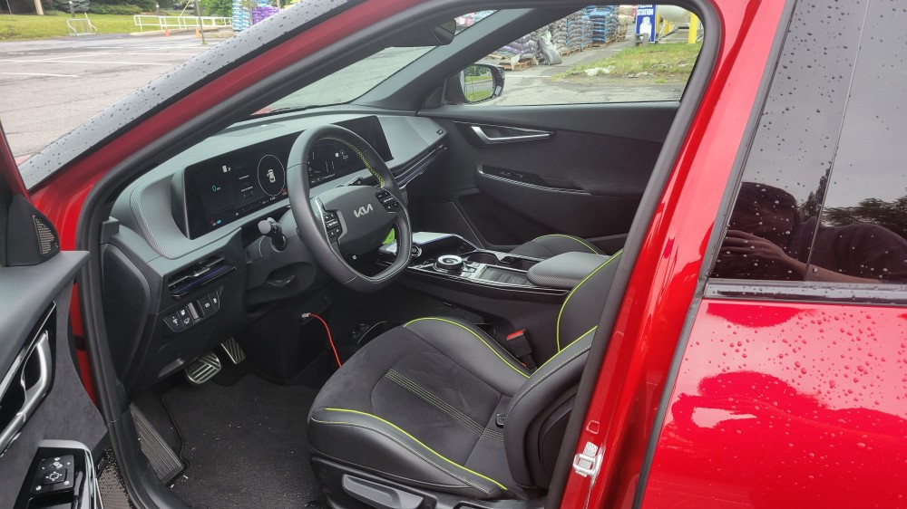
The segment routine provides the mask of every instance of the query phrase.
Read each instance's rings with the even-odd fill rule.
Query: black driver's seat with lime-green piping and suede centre
[[[448,318],[414,320],[356,352],[308,416],[327,501],[358,504],[342,487],[356,473],[462,499],[541,495],[618,259],[568,294],[558,353],[532,373],[480,329]]]

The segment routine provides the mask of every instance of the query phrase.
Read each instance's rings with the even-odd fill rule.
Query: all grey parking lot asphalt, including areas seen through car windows
[[[218,40],[202,45],[194,35],[128,35],[0,43],[0,122],[16,158],[43,149],[85,120],[112,106],[154,78]],[[559,65],[506,72],[504,93],[483,106],[581,104],[620,101],[677,101],[678,85],[564,82],[552,79],[583,62],[595,62],[629,48],[628,41],[564,57]],[[348,101],[384,79],[382,69],[398,69],[424,50],[395,48],[346,70],[343,86],[313,83],[290,102],[333,104]],[[348,90],[347,90],[348,89]],[[350,91],[356,90],[356,93]],[[285,101],[287,101],[285,100]],[[281,101],[276,107],[283,106]]]

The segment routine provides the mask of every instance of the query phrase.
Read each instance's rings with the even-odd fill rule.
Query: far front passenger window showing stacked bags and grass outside
[[[482,106],[679,101],[703,26],[673,5],[590,5],[488,54],[506,73]]]

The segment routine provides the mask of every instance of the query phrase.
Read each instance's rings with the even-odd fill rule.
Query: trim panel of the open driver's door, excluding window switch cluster
[[[30,468],[48,441],[84,445],[99,457],[106,427],[79,378],[69,332],[73,279],[87,258],[63,252],[0,268],[0,433],[12,437],[0,456],[2,507],[34,486]]]

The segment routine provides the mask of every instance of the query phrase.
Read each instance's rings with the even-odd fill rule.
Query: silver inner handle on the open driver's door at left
[[[32,362],[36,362],[35,370],[30,370]],[[0,433],[0,451],[4,451],[13,441],[19,430],[25,425],[28,418],[32,417],[34,410],[38,408],[41,400],[51,389],[51,371],[54,368],[54,360],[51,356],[50,333],[44,331],[34,342],[34,347],[24,358],[24,362],[19,364],[19,385],[23,390],[24,398],[22,407],[15,413],[15,416],[6,425],[3,433]],[[26,374],[37,374],[37,379],[30,382],[26,379]]]

